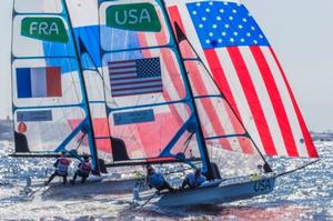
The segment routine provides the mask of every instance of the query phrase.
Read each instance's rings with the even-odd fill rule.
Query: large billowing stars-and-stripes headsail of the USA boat
[[[219,0],[167,4],[259,148],[268,155],[317,157],[280,62],[246,8]]]

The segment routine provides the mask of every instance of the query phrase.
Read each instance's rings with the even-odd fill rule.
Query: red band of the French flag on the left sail
[[[61,70],[59,67],[47,67],[47,94],[48,97],[61,97]]]

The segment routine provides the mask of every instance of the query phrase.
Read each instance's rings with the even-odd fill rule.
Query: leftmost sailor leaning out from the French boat
[[[68,155],[65,154],[64,151],[62,151],[60,157],[58,158],[58,160],[53,164],[54,168],[56,168],[54,172],[51,174],[49,180],[46,181],[44,184],[48,185],[53,180],[53,178],[56,175],[62,177],[63,178],[62,184],[65,184],[67,183],[67,175],[68,175],[68,168],[69,168],[70,163],[71,163],[71,161],[68,159]]]

